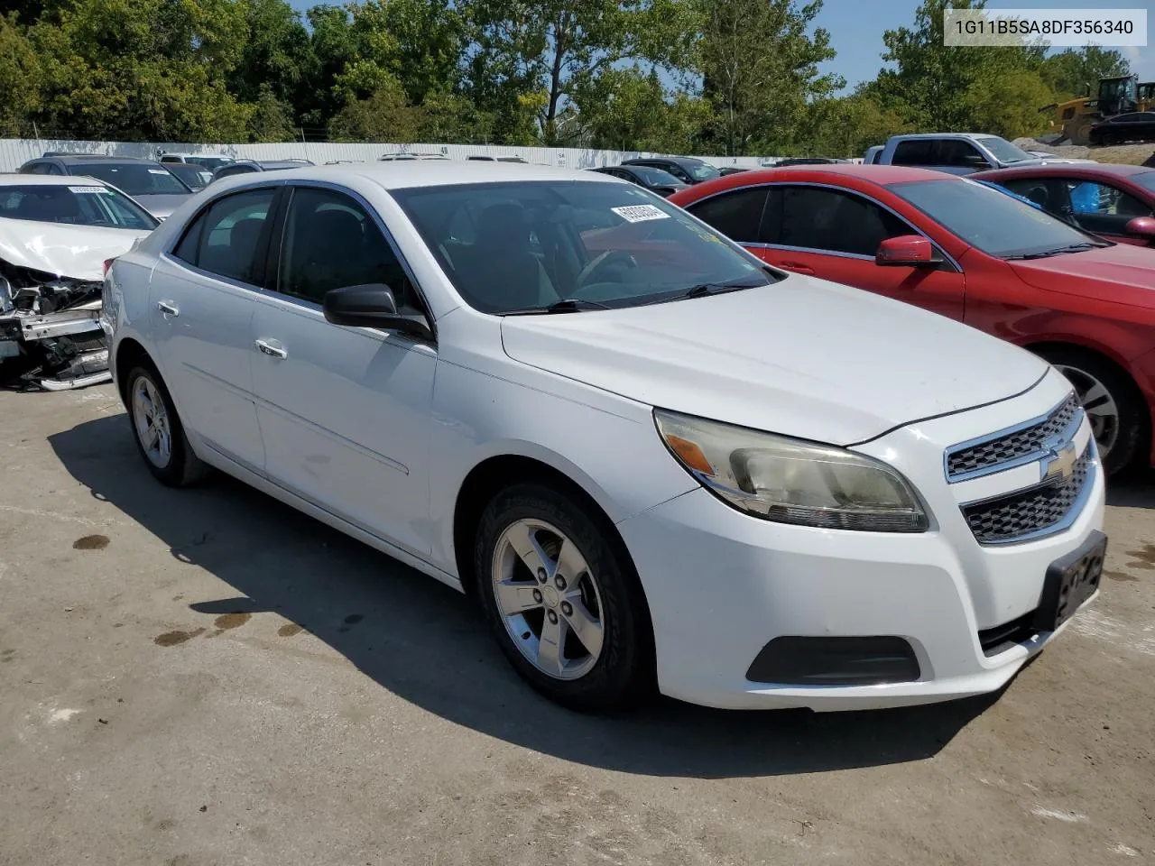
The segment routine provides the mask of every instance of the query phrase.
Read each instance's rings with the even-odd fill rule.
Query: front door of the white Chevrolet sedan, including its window
[[[366,206],[290,187],[270,291],[256,305],[253,389],[269,478],[413,553],[430,551],[429,425],[435,348],[326,321],[326,292],[383,283],[423,312]]]

